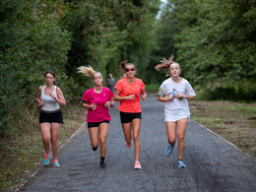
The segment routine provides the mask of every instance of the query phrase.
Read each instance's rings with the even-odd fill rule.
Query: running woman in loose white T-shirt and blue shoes
[[[165,125],[168,137],[168,146],[165,155],[169,157],[174,148],[176,137],[178,141],[178,167],[186,167],[182,161],[185,148],[185,133],[187,122],[190,119],[188,99],[194,99],[196,96],[189,82],[180,77],[180,65],[172,61],[173,56],[168,60],[161,60],[156,66],[157,70],[169,69],[166,76],[170,78],[160,85],[158,99],[164,103]],[[177,129],[176,129],[177,127]]]

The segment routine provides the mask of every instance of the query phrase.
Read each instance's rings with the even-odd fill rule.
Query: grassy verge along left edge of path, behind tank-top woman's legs
[[[12,138],[0,141],[0,191],[15,190],[41,167],[44,155],[38,118],[39,111],[30,115],[30,122]],[[80,104],[62,108],[64,124],[59,135],[59,147],[76,132],[86,120],[87,111]],[[28,119],[26,119],[28,121]]]

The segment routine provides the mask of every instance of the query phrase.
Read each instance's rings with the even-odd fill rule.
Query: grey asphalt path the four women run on
[[[142,101],[141,170],[134,170],[117,107],[107,137],[107,168],[99,168],[99,152],[91,147],[87,126],[60,150],[60,167],[41,167],[19,191],[256,191],[255,160],[200,124],[188,123],[183,161],[177,145],[165,157],[167,138],[163,103],[154,96]]]

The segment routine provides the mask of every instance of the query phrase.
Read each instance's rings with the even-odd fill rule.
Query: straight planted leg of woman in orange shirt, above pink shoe
[[[133,142],[134,142],[135,160],[140,160],[140,154],[141,154],[141,143],[140,143],[141,119],[139,119],[139,118],[133,119],[132,128],[133,128]]]

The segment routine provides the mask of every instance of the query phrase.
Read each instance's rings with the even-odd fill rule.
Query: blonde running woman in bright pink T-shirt
[[[79,73],[93,78],[95,83],[95,87],[87,90],[82,96],[81,105],[88,108],[87,122],[91,144],[93,150],[96,151],[99,141],[99,165],[101,168],[105,168],[106,137],[111,120],[108,107],[114,106],[113,93],[108,88],[102,87],[103,77],[101,73],[96,72],[91,66],[79,67]]]

